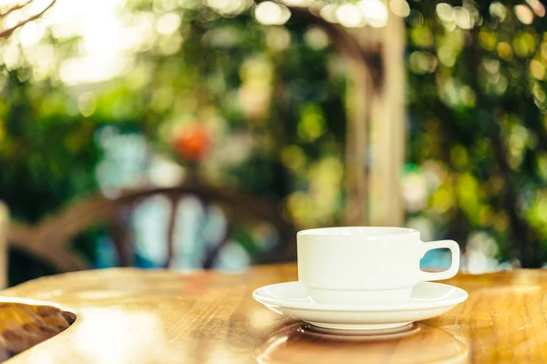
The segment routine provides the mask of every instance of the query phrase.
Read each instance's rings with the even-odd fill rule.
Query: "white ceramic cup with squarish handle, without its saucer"
[[[452,263],[436,273],[419,268],[428,250],[449,248]],[[297,234],[298,279],[317,303],[399,303],[421,281],[454,277],[459,246],[453,240],[424,243],[405,227],[323,227]]]

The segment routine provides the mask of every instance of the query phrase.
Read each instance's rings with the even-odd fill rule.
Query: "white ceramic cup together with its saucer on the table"
[[[428,250],[449,248],[448,270],[426,272]],[[405,227],[325,227],[297,234],[298,281],[258,288],[253,298],[276,313],[324,329],[381,330],[439,316],[468,293],[431,282],[459,269],[453,240],[422,242]]]

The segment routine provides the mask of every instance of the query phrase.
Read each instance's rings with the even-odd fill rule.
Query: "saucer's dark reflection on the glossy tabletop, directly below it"
[[[448,332],[422,324],[382,333],[341,334],[294,324],[272,334],[254,350],[259,363],[462,363],[467,345]]]

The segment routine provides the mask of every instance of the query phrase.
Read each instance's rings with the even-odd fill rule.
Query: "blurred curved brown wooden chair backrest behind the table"
[[[167,226],[167,254],[160,266],[171,267],[175,238],[181,227],[181,211],[178,208],[185,198],[191,197],[202,207],[220,207],[225,217],[225,227],[215,242],[207,244],[201,260],[202,268],[212,268],[222,248],[232,238],[234,227],[240,221],[263,221],[274,227],[278,244],[253,259],[253,263],[285,261],[295,258],[295,229],[285,221],[272,205],[262,200],[233,194],[205,185],[189,185],[168,188],[150,188],[129,191],[116,198],[100,196],[81,199],[61,212],[46,217],[35,227],[17,223],[11,224],[8,241],[11,246],[51,263],[60,271],[73,271],[91,268],[90,264],[70,248],[70,241],[89,227],[97,224],[108,226],[108,236],[114,243],[118,255],[118,265],[134,265],[135,239],[133,220],[136,208],[152,197],[162,197],[169,201],[170,213]]]

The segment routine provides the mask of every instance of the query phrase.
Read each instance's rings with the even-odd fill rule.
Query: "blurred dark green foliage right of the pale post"
[[[460,242],[484,232],[495,258],[541,267],[547,22],[540,2],[413,2],[408,157],[427,180],[428,217]]]

